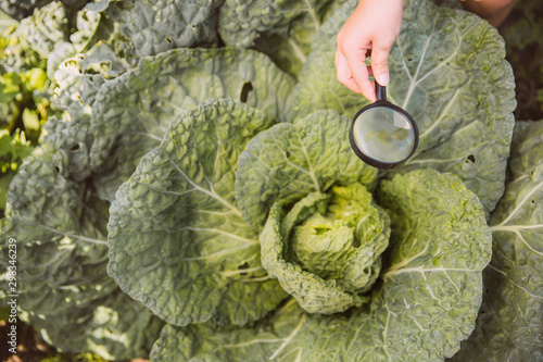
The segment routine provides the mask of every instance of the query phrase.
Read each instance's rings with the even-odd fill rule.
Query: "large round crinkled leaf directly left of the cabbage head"
[[[273,121],[231,100],[182,113],[110,210],[109,274],[176,325],[244,324],[286,298],[233,195],[238,157]]]

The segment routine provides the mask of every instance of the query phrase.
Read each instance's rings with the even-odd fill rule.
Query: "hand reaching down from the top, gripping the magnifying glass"
[[[389,85],[389,53],[400,34],[403,5],[403,0],[361,0],[338,34],[338,80],[371,102],[376,95],[369,76]],[[369,55],[371,66],[366,66]]]

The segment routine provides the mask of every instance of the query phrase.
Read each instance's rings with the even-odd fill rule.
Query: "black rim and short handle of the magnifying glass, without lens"
[[[405,110],[401,109],[400,107],[397,107],[395,104],[392,104],[391,102],[389,102],[387,100],[387,90],[386,90],[386,87],[380,86],[376,82],[375,83],[375,89],[376,89],[377,100],[374,103],[364,107],[362,110],[359,110],[356,113],[356,115],[353,118],[353,123],[351,124],[351,129],[349,132],[349,140],[351,141],[351,148],[353,149],[354,153],[362,161],[364,161],[367,164],[369,164],[370,166],[374,166],[374,167],[377,167],[377,168],[390,170],[390,168],[394,168],[400,163],[405,162],[407,159],[409,159],[413,155],[413,153],[415,153],[415,150],[418,147],[418,127],[417,127],[417,124],[415,123],[415,120],[413,120],[413,117],[411,116],[409,113],[407,113]],[[381,161],[378,161],[378,160],[376,160],[374,158],[370,158],[369,155],[367,155],[366,153],[364,153],[362,151],[362,149],[358,147],[358,143],[356,143],[356,140],[354,139],[353,128],[354,128],[354,124],[356,122],[356,118],[358,118],[358,116],[361,115],[362,112],[365,112],[365,111],[367,111],[367,110],[369,110],[371,108],[375,108],[375,107],[387,107],[389,109],[394,110],[397,113],[401,113],[403,116],[405,116],[405,118],[409,122],[409,124],[413,127],[413,135],[414,135],[414,138],[415,138],[414,145],[413,145],[413,149],[409,152],[409,154],[407,154],[407,157],[404,158],[404,159],[402,159],[401,161],[397,161],[397,162],[381,162]]]

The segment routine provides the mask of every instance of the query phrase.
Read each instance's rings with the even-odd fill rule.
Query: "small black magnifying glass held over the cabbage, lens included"
[[[413,155],[418,128],[413,117],[387,100],[387,89],[375,83],[377,100],[356,113],[349,139],[354,153],[378,168],[393,168]]]

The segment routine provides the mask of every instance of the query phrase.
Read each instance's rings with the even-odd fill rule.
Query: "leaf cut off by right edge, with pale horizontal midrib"
[[[543,123],[517,122],[510,180],[490,221],[483,303],[457,361],[543,359],[542,140]]]

